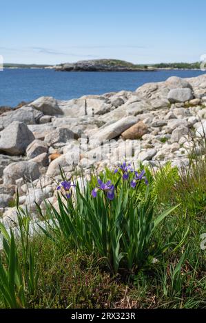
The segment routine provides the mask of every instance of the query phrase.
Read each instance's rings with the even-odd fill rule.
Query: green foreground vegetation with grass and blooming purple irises
[[[191,156],[181,172],[91,172],[83,189],[62,170],[59,208],[37,205],[34,235],[17,196],[19,234],[0,226],[0,307],[206,308],[206,157]]]

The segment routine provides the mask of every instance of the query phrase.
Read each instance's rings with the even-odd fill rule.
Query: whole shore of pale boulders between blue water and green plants
[[[68,177],[123,160],[187,166],[190,135],[206,131],[206,74],[171,77],[136,91],[62,101],[42,97],[0,115],[0,221],[14,225],[14,201],[36,219],[36,203],[56,203],[61,166]],[[195,153],[202,154],[196,144]]]

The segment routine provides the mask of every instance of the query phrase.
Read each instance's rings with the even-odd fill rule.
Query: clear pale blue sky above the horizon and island
[[[206,54],[203,0],[1,0],[0,5],[5,63],[192,62]]]

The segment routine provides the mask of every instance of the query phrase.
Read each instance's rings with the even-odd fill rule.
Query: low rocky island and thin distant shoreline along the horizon
[[[3,66],[10,69],[55,69],[55,71],[157,71],[158,69],[200,69],[200,62],[146,65],[134,64],[125,60],[98,59],[80,60],[76,63],[61,63],[59,65],[5,63]]]

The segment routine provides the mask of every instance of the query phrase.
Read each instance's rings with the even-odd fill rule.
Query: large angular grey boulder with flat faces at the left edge
[[[23,122],[14,121],[0,133],[0,151],[8,155],[22,155],[34,135]]]

